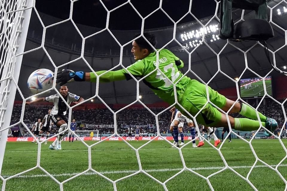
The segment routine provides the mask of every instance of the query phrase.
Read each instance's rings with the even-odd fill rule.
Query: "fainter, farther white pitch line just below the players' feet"
[[[270,146],[270,147],[272,147],[272,146]],[[230,147],[222,147],[222,148],[230,148]],[[233,148],[235,148],[235,147],[233,147]],[[236,148],[246,148],[246,147],[236,147]],[[140,151],[141,150],[167,150],[167,149],[175,150],[175,148],[166,148],[166,149],[140,149]],[[183,149],[195,149],[195,148],[188,148],[187,147],[187,148],[183,148]],[[196,149],[213,149],[213,148],[212,147],[209,147],[209,148],[201,147],[201,148],[196,148]],[[118,149],[118,150],[114,149],[114,150],[91,150],[91,151],[93,152],[93,151],[125,151],[125,150],[132,151],[133,149],[131,148],[131,149]],[[37,152],[38,152],[38,150],[28,150],[28,151],[7,151],[6,153],[37,153]],[[43,149],[43,150],[41,150],[41,152],[56,152],[56,150],[51,151],[48,149],[47,150]],[[61,150],[59,152],[88,152],[88,150]]]

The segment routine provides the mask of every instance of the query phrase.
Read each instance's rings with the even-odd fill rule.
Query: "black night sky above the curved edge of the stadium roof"
[[[103,0],[108,10],[125,3],[126,0]],[[138,12],[147,16],[159,7],[159,0],[131,0]],[[215,11],[214,0],[193,0],[191,12],[198,18],[210,16]],[[189,8],[189,0],[163,0],[162,8],[168,15],[177,21]],[[36,9],[39,12],[55,16],[60,19],[67,19],[70,13],[70,0],[49,0],[36,1]],[[79,0],[74,2],[73,20],[78,24],[92,27],[105,28],[107,12],[99,0]],[[193,21],[193,17],[188,15],[180,23]],[[144,28],[159,28],[173,25],[172,21],[165,14],[158,10],[145,21]],[[120,7],[110,14],[109,28],[112,30],[139,30],[141,29],[141,19],[129,4]]]

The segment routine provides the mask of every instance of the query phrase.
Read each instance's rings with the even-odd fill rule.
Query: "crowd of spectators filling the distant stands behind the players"
[[[256,101],[251,100],[249,104],[253,107],[257,107]],[[38,118],[43,119],[48,111],[48,105],[26,105],[24,113],[24,122],[26,124],[33,124]],[[164,110],[164,107],[150,108],[155,114]],[[20,119],[22,111],[22,104],[15,104],[13,107],[11,124],[16,123]],[[285,119],[283,116],[282,107],[271,99],[265,99],[265,105],[263,103],[259,106],[258,111],[264,115],[274,118],[278,122],[278,128],[275,130],[275,134],[280,132]],[[239,114],[232,114],[233,117],[243,117]],[[75,110],[72,113],[72,118],[76,121],[80,121],[81,124],[97,124],[101,127],[89,127],[83,126],[78,130],[99,130],[102,134],[114,133],[114,117],[108,109],[89,109],[89,110]],[[160,125],[160,133],[168,133],[170,127],[171,113],[169,110],[165,111],[158,117]],[[129,125],[140,126],[141,133],[156,133],[155,116],[152,115],[145,108],[126,108],[125,110],[117,114],[117,126],[119,134],[126,134],[127,127]],[[33,125],[30,125],[32,128]],[[134,127],[135,128],[135,127]],[[55,128],[52,133],[55,132]],[[184,133],[189,133],[187,128],[184,128]]]

